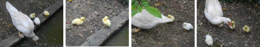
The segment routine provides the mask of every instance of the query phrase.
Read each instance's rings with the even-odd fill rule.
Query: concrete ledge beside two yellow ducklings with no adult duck
[[[111,26],[101,28],[98,32],[88,37],[87,41],[81,46],[104,46],[110,38],[117,34],[129,21],[129,8],[123,11],[111,21]]]

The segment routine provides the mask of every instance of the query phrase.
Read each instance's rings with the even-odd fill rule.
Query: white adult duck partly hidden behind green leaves
[[[165,17],[163,14],[162,19],[153,16],[147,10],[143,9],[141,13],[137,13],[132,17],[132,25],[139,27],[138,29],[132,29],[132,32],[138,32],[142,29],[151,29],[159,24],[173,21],[170,18]]]

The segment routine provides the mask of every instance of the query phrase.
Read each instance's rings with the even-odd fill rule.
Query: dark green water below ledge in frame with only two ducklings
[[[104,46],[128,46],[129,24],[123,27],[119,33],[114,35]]]

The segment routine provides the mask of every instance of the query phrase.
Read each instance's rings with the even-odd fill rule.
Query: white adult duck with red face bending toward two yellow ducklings
[[[231,20],[223,17],[223,11],[218,0],[206,0],[204,14],[213,25],[221,28],[223,26],[222,22],[225,22],[233,29]]]

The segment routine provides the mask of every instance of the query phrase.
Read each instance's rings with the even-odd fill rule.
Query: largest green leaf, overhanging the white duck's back
[[[151,6],[146,6],[146,7],[145,7],[145,10],[147,10],[147,11],[148,11],[150,14],[152,14],[153,16],[162,19],[161,12],[160,12],[158,9],[156,9],[156,8],[154,8],[154,7],[151,7]]]

